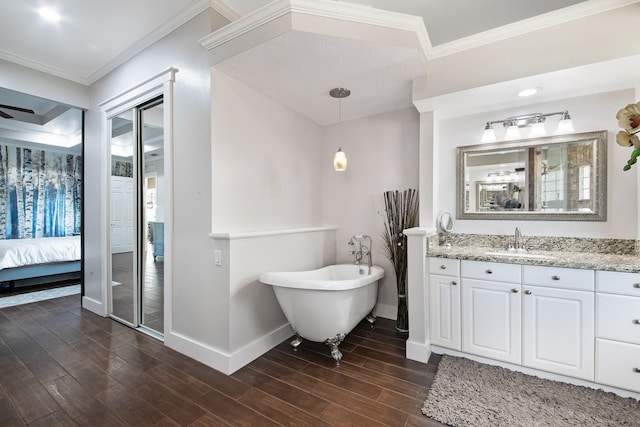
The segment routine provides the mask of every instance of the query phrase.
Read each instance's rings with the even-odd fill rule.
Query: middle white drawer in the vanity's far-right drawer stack
[[[599,338],[640,344],[640,297],[599,293],[596,301]]]

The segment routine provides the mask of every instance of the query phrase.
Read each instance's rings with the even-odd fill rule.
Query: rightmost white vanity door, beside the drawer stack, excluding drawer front
[[[594,294],[523,287],[523,365],[593,381]]]

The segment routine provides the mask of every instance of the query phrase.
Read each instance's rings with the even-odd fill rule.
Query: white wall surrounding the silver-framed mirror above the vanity
[[[618,124],[615,118],[620,108],[636,102],[634,90],[608,92],[597,95],[567,98],[542,104],[530,104],[472,116],[455,117],[439,122],[440,174],[436,183],[439,212],[456,210],[456,147],[480,144],[484,124],[513,115],[547,113],[568,110],[576,132],[608,130],[607,171],[607,221],[479,221],[457,220],[455,231],[459,233],[510,234],[516,226],[525,235],[566,236],[599,238],[636,238],[635,213],[637,210],[637,184],[635,172],[623,172],[631,151],[618,146],[615,134]],[[556,118],[547,120],[547,132],[551,134]],[[496,127],[496,135],[503,135]],[[444,165],[448,165],[444,166]],[[435,224],[424,224],[425,226]]]

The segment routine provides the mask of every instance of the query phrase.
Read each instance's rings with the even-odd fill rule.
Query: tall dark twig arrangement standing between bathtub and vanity
[[[385,255],[393,264],[398,288],[398,317],[396,329],[409,328],[407,312],[407,236],[403,230],[418,225],[418,191],[408,189],[385,191],[384,207],[387,215],[383,239]]]

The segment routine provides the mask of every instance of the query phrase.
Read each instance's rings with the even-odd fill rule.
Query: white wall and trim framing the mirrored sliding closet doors
[[[165,330],[169,345],[174,337],[226,349],[228,294],[225,283],[213,277],[211,231],[210,80],[212,59],[198,39],[227,21],[212,10],[198,15],[91,87],[92,108],[87,115],[85,167],[87,171],[85,237],[87,295],[101,301],[106,259],[108,211],[103,181],[108,177],[107,147],[101,137],[99,103],[120,95],[150,77],[175,67],[173,148],[173,324]],[[171,153],[165,152],[165,156]],[[165,171],[166,172],[166,171]],[[102,213],[100,216],[99,213]],[[198,347],[198,344],[194,344]],[[200,348],[200,347],[198,347]],[[206,352],[205,352],[206,353]],[[206,355],[200,355],[204,359]]]

